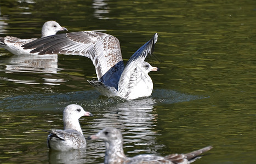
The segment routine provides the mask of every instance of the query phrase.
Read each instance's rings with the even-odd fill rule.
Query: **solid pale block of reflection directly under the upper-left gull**
[[[19,55],[7,60],[5,70],[12,72],[57,73],[58,55]]]

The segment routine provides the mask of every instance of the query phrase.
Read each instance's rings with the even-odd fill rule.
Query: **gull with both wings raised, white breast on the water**
[[[150,96],[153,83],[148,73],[159,71],[145,62],[157,42],[155,33],[141,46],[124,67],[119,40],[110,34],[81,31],[56,34],[23,45],[39,54],[65,54],[89,57],[95,66],[98,80],[88,81],[102,95],[135,99]]]

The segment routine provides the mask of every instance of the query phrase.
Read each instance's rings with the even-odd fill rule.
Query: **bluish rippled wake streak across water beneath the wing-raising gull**
[[[207,96],[188,95],[174,90],[156,89],[150,97],[143,97],[127,101],[120,97],[104,97],[96,90],[77,91],[67,93],[41,93],[20,95],[2,98],[0,106],[2,111],[7,110],[55,110],[62,109],[71,103],[80,104],[83,107],[101,108],[107,106],[153,106],[156,103],[173,104],[208,98]]]

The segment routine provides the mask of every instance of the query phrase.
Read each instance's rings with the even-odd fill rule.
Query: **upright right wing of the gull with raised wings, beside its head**
[[[118,92],[121,93],[121,95],[124,96],[128,94],[127,91],[129,91],[129,87],[133,85],[134,79],[136,79],[134,74],[136,74],[138,71],[141,71],[136,70],[136,65],[138,65],[138,63],[142,63],[147,55],[153,53],[155,44],[157,42],[157,37],[158,34],[155,33],[149,42],[141,46],[128,60],[118,83]]]

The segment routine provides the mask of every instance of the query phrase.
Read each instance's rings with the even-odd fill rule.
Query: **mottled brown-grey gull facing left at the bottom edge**
[[[111,163],[169,163],[169,164],[188,164],[200,158],[200,154],[212,149],[211,146],[205,147],[187,154],[171,154],[167,156],[157,156],[153,154],[141,154],[134,157],[127,157],[123,152],[122,134],[117,128],[106,127],[88,139],[101,139],[105,142],[105,164]]]

